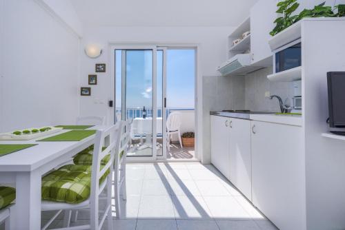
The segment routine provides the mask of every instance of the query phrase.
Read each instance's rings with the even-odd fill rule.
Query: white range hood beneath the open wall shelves
[[[236,54],[231,59],[217,67],[217,71],[223,76],[246,75],[262,66],[250,65],[250,54]]]

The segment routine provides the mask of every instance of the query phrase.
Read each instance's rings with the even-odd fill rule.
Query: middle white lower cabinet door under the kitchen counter
[[[230,181],[252,200],[250,121],[230,118]]]

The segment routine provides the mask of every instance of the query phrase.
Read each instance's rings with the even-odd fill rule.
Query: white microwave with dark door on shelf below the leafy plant
[[[297,39],[273,52],[273,72],[275,74],[301,66],[301,39]]]

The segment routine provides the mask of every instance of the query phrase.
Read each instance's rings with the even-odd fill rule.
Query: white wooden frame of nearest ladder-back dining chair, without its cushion
[[[58,210],[55,216],[53,216],[49,222],[42,228],[47,229],[52,221],[57,218],[59,213],[62,210],[65,210],[65,227],[63,229],[101,229],[104,221],[108,220],[108,229],[112,229],[112,209],[111,209],[111,200],[112,200],[112,172],[113,172],[113,163],[115,161],[115,156],[118,155],[117,149],[119,149],[119,140],[124,122],[119,122],[116,125],[111,127],[98,130],[95,137],[95,148],[92,154],[92,171],[91,171],[91,187],[90,187],[90,198],[79,204],[68,204],[65,202],[50,202],[42,201],[42,211],[52,211]],[[104,146],[105,138],[108,137],[109,145],[102,151]],[[104,167],[101,169],[101,159],[103,159],[107,154],[110,154],[110,160]],[[110,174],[106,177],[101,184],[99,184],[99,179],[103,176],[107,170],[110,170]],[[106,209],[104,211],[99,211],[99,198],[102,198],[102,191],[106,191]],[[70,227],[70,218],[72,211],[80,209],[90,209],[90,224]],[[103,213],[101,216],[101,221],[99,222],[99,213]]]

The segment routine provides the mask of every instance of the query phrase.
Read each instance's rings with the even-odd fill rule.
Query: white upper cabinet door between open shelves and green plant
[[[260,0],[250,8],[250,52],[252,63],[257,63],[272,56],[268,39],[271,37],[269,32],[275,27],[273,21],[277,17],[276,11],[276,0]]]

